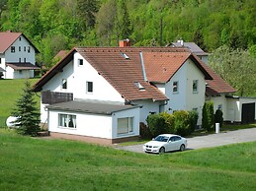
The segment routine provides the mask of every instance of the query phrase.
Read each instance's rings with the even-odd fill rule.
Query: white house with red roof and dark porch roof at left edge
[[[0,68],[4,79],[33,78],[39,50],[22,32],[0,32]]]

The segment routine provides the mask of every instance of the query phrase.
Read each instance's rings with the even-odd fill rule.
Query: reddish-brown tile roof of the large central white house
[[[127,100],[168,99],[152,83],[168,82],[188,58],[196,63],[208,81],[211,81],[214,77],[216,83],[220,83],[217,87],[213,87],[219,88],[226,85],[210,68],[204,65],[205,63],[200,58],[187,48],[88,47],[73,48],[34,85],[34,90],[36,92],[41,91],[43,85],[73,59],[75,52],[79,52]],[[143,57],[145,76],[148,81],[144,80],[140,54]],[[213,77],[211,74],[213,74]],[[143,90],[139,90],[135,83],[139,83]],[[215,83],[213,82],[212,84],[214,85]],[[230,90],[230,86],[226,88],[227,90],[223,88],[217,89],[217,91],[219,93],[222,91],[227,93]]]

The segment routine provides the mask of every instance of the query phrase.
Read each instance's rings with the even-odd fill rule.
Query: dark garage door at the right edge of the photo
[[[255,122],[255,102],[242,104],[242,123]]]

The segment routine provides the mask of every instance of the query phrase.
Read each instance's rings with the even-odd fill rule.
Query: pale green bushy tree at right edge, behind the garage
[[[256,59],[247,50],[220,46],[213,51],[209,64],[237,96],[256,96]]]

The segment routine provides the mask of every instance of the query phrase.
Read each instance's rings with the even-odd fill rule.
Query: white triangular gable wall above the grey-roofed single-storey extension
[[[74,60],[63,68],[63,72],[56,74],[43,90],[60,93],[73,93],[74,98],[99,99],[125,102],[125,99],[83,59],[83,65],[78,64],[83,59],[79,53],[74,54]],[[67,79],[67,89],[62,90],[62,79]],[[93,82],[93,93],[86,93],[86,82]]]

